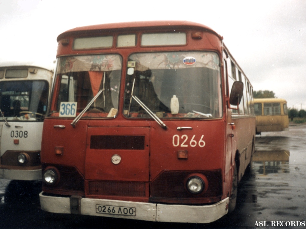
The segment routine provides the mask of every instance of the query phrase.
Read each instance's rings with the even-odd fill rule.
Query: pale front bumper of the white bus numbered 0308
[[[0,169],[0,178],[7,180],[41,180],[41,169]]]

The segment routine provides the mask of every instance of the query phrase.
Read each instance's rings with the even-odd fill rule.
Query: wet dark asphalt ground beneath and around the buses
[[[252,174],[239,184],[236,209],[210,224],[47,213],[40,191],[40,181],[0,179],[0,228],[306,228],[306,125],[256,135]]]

